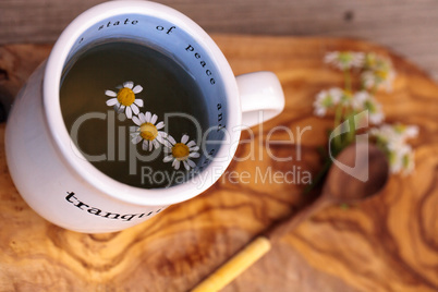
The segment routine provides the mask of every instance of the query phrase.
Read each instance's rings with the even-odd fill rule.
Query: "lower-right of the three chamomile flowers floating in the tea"
[[[183,135],[180,143],[177,143],[171,135],[168,135],[165,145],[167,147],[167,153],[170,153],[170,155],[162,159],[163,162],[172,161],[172,167],[175,170],[180,169],[181,162],[184,165],[186,170],[196,167],[196,163],[191,160],[191,158],[199,157],[199,154],[197,153],[199,147],[196,146],[194,141],[188,142],[188,135]]]

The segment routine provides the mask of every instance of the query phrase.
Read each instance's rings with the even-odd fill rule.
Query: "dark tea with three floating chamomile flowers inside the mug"
[[[175,174],[186,180],[198,163],[198,127],[208,124],[190,72],[172,56],[131,41],[95,45],[76,56],[64,65],[60,104],[84,157],[132,186],[170,186]]]

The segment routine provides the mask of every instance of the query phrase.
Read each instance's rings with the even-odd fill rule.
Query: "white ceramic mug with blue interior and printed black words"
[[[134,187],[101,173],[75,148],[60,108],[63,66],[84,46],[118,37],[170,53],[208,92],[210,106],[205,110],[212,117],[220,114],[228,138],[207,149],[215,159],[203,160],[203,175],[168,188]],[[234,77],[212,39],[180,12],[146,1],[107,2],[65,28],[48,60],[16,97],[7,122],[8,166],[23,198],[47,220],[78,232],[119,231],[211,186],[233,158],[241,125],[260,122],[260,111],[263,120],[273,118],[283,107],[284,96],[272,73]]]

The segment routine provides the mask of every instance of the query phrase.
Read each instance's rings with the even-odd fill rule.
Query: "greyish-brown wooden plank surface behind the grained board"
[[[0,45],[53,42],[102,0],[0,0]],[[438,80],[436,0],[158,0],[208,33],[367,39],[411,59]]]

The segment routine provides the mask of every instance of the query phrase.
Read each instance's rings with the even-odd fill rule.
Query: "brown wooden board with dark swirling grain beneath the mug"
[[[417,124],[416,172],[392,177],[384,192],[344,210],[331,207],[278,242],[264,258],[223,291],[437,291],[438,290],[438,86],[415,65],[385,48],[331,38],[216,35],[234,73],[270,70],[283,85],[284,112],[254,127],[254,160],[234,161],[229,171],[248,171],[251,183],[229,174],[205,194],[169,207],[123,232],[89,235],[54,227],[37,216],[17,194],[4,159],[0,125],[0,291],[186,291],[215,270],[273,221],[308,203],[303,184],[255,181],[256,168],[287,172],[293,166],[315,173],[317,146],[325,143],[330,118],[312,115],[316,93],[340,85],[342,75],[327,68],[328,50],[377,51],[390,56],[398,76],[392,94],[379,94],[387,120]],[[50,46],[0,48],[2,93],[16,94]],[[33,51],[31,54],[29,51]],[[8,56],[5,58],[5,56]],[[33,65],[35,64],[35,65]],[[273,145],[276,162],[258,139],[275,125],[294,133],[312,126],[295,145]],[[243,133],[243,139],[250,133]],[[273,139],[288,139],[275,132]],[[263,156],[263,157],[260,157]]]

